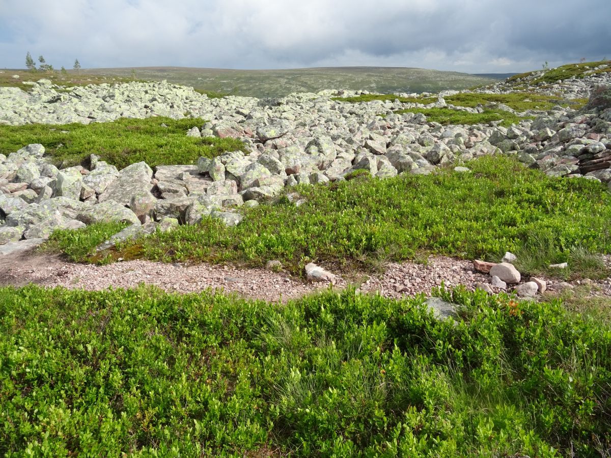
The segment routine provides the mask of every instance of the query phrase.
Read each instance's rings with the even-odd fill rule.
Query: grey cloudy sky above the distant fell
[[[611,59],[610,20],[611,0],[0,0],[0,68],[506,73]]]

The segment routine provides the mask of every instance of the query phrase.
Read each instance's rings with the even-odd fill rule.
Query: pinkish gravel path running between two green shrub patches
[[[477,284],[489,284],[489,276],[476,272],[467,260],[430,256],[426,264],[389,263],[381,277],[370,277],[361,286],[363,292],[376,292],[385,297],[400,298],[417,293],[430,296],[431,289],[441,285],[464,285],[474,290]],[[523,278],[522,282],[529,280]],[[548,287],[558,282],[549,279]],[[123,261],[95,266],[65,261],[62,256],[48,253],[18,253],[0,257],[0,286],[22,286],[27,283],[66,288],[106,289],[131,288],[139,283],[156,285],[165,291],[191,293],[207,288],[236,292],[244,297],[271,302],[285,302],[294,297],[326,288],[324,283],[310,283],[285,272],[265,269],[240,269],[232,266],[209,264],[167,264],[145,260]],[[576,284],[577,282],[574,282]],[[598,285],[600,293],[611,296],[611,282]],[[338,277],[336,288],[347,282]],[[566,285],[566,283],[564,283]],[[492,288],[495,293],[501,290]]]

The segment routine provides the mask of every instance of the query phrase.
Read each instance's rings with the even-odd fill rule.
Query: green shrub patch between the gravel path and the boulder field
[[[245,217],[236,227],[204,219],[122,245],[113,255],[250,266],[278,259],[295,272],[309,261],[370,270],[380,260],[405,260],[422,252],[490,258],[536,248],[529,240],[548,233],[554,238],[546,260],[567,261],[578,249],[611,252],[611,194],[601,183],[551,178],[504,156],[467,165],[471,173],[440,169],[385,180],[357,173],[330,186],[296,187],[292,191],[301,194],[302,205],[281,197],[241,209]],[[54,233],[51,242],[75,250],[70,234],[76,233]],[[599,275],[606,273],[603,269]]]

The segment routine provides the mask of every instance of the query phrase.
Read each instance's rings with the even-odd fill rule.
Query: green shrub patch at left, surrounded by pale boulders
[[[28,124],[0,126],[0,153],[10,154],[24,145],[40,143],[56,164],[81,164],[92,153],[103,161],[123,169],[145,161],[150,167],[171,164],[195,164],[200,156],[213,158],[225,151],[243,150],[236,139],[187,137],[199,118],[145,119],[119,118],[109,123],[72,123],[65,125]]]

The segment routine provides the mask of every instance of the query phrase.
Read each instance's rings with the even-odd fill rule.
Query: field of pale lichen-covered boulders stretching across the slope
[[[525,111],[519,115],[528,118],[508,128],[500,122],[444,126],[427,122],[421,113],[395,114],[414,107],[482,111],[447,104],[444,96],[456,91],[441,92],[435,103],[424,105],[398,99],[332,100],[360,94],[348,90],[277,99],[211,99],[167,82],[90,85],[68,92],[57,92],[45,79],[32,84],[27,93],[0,88],[0,124],[187,116],[210,121],[192,126],[185,135],[234,137],[247,152],[228,151],[213,159],[202,157],[197,164],[159,165],[155,170],[145,162],[117,170],[96,151],[91,151],[87,168],[58,169],[40,144],[0,154],[0,246],[25,246],[24,240],[31,245],[56,228],[108,220],[131,225],[100,249],[178,224],[197,224],[207,216],[232,226],[240,224],[241,206],[258,205],[285,187],[345,180],[356,170],[379,178],[428,174],[440,165],[469,173],[461,164],[486,154],[516,156],[525,166],[551,176],[611,182],[611,73],[543,88],[533,85],[529,90],[535,93],[589,96],[590,102],[579,111],[562,106]],[[522,84],[528,85],[528,78]],[[512,91],[507,82],[478,90]],[[514,112],[502,104],[496,107]]]

